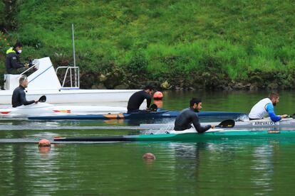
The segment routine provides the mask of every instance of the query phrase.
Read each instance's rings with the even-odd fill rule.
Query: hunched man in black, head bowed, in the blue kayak
[[[154,88],[150,85],[146,86],[143,90],[139,92],[135,92],[133,95],[131,95],[129,101],[128,101],[128,113],[131,112],[147,112],[150,111],[150,102],[152,102],[152,93],[154,92]],[[140,110],[140,105],[143,103],[143,101],[147,99],[147,109]]]

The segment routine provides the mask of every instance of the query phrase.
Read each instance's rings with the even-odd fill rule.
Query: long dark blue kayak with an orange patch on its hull
[[[180,111],[150,111],[120,114],[83,114],[83,115],[52,115],[52,116],[30,116],[31,120],[109,120],[109,119],[164,119],[175,118]],[[197,113],[200,118],[222,118],[237,119],[239,116],[245,115],[240,112],[231,111],[200,111]]]

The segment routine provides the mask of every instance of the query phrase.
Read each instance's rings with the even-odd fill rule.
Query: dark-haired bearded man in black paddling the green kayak
[[[190,107],[183,109],[180,114],[175,119],[174,130],[183,131],[185,129],[192,128],[192,124],[195,126],[195,129],[198,133],[204,133],[208,129],[214,129],[213,125],[201,126],[199,122],[199,116],[196,112],[199,112],[202,109],[201,99],[192,98],[190,100]]]

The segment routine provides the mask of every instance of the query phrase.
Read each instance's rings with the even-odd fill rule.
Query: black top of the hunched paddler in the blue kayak
[[[145,92],[145,90],[141,90],[139,92],[135,92],[131,95],[128,101],[128,113],[139,111],[140,105],[143,104],[143,101],[147,99],[147,107],[150,107],[150,102],[152,102],[152,96]]]

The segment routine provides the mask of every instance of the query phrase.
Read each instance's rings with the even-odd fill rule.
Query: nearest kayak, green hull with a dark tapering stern
[[[247,130],[220,130],[208,131],[204,134],[147,134],[133,136],[107,136],[107,137],[72,137],[54,138],[54,141],[64,142],[102,142],[102,141],[205,141],[232,138],[295,138],[295,130],[286,131],[247,131]]]

